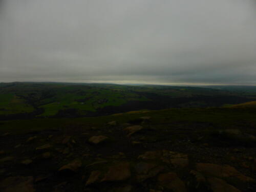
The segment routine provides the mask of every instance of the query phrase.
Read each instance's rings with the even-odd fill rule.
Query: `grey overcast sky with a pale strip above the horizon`
[[[256,0],[0,0],[0,82],[256,85]]]

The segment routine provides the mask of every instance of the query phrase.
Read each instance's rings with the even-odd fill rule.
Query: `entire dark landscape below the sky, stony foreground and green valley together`
[[[255,191],[256,88],[0,83],[1,191]]]

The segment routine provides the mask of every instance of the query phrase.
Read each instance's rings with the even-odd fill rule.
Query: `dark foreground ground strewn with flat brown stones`
[[[95,127],[2,133],[0,191],[256,191],[252,134],[225,129],[208,137],[207,123],[137,116]]]

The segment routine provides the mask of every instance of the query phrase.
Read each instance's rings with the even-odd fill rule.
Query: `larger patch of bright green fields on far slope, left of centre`
[[[65,94],[64,91],[68,93]],[[74,91],[70,93],[71,91]],[[122,93],[119,90],[102,90],[90,89],[81,93],[77,93],[72,88],[62,88],[55,95],[55,99],[42,100],[42,102],[53,101],[49,104],[40,105],[39,108],[44,109],[44,113],[40,116],[51,116],[57,114],[59,110],[77,109],[81,114],[86,114],[87,111],[95,112],[97,109],[105,106],[120,106],[126,102],[147,101],[145,97],[140,97],[134,93]]]

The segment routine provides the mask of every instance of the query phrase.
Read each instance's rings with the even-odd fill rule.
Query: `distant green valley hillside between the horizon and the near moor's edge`
[[[256,100],[226,89],[104,83],[0,83],[0,118],[79,117],[135,110],[205,108]]]

